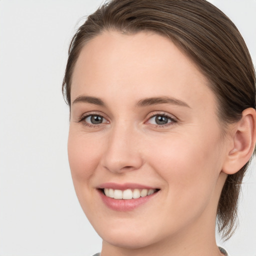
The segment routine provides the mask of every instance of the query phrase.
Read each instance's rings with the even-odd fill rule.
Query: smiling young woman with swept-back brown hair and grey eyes
[[[113,0],[63,80],[75,191],[107,255],[226,255],[256,141],[255,73],[205,0]]]

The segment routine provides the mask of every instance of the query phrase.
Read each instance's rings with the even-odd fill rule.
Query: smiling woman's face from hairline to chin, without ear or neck
[[[206,84],[155,33],[108,31],[82,48],[68,157],[79,202],[105,243],[138,248],[214,230],[226,143]]]

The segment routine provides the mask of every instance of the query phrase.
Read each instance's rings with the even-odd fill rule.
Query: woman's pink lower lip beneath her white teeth
[[[105,196],[105,194],[101,191],[98,190],[99,195],[102,199],[102,201],[105,203],[105,205],[116,211],[131,211],[138,206],[146,203],[148,200],[150,200],[152,197],[154,197],[157,192],[154,192],[153,194],[146,195],[144,197],[139,197],[139,198],[132,198],[132,199],[114,199],[111,197]]]

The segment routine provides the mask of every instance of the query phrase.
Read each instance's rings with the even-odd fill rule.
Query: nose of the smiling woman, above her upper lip
[[[139,140],[138,132],[126,125],[118,125],[111,129],[101,158],[103,167],[115,173],[139,169],[143,164]]]

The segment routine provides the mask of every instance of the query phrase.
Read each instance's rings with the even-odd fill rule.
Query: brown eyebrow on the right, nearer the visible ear
[[[156,104],[173,104],[173,105],[178,105],[178,106],[190,106],[185,103],[184,101],[177,99],[177,98],[172,98],[172,97],[151,97],[151,98],[144,98],[140,99],[135,106],[148,106],[148,105],[156,105]]]

